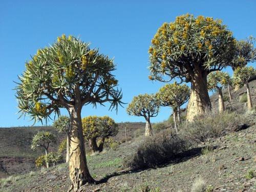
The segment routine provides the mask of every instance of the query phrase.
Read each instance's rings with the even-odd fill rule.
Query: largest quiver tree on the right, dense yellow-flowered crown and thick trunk
[[[221,20],[186,14],[164,23],[152,39],[150,79],[191,82],[187,120],[211,108],[207,75],[224,68],[232,59],[232,33]],[[164,77],[167,76],[168,78]]]

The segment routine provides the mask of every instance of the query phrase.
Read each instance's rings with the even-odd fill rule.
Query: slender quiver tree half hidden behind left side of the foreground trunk
[[[57,120],[53,122],[53,126],[60,133],[66,133],[67,135],[67,153],[66,153],[66,163],[69,162],[69,147],[70,147],[70,118],[68,116],[60,116]]]

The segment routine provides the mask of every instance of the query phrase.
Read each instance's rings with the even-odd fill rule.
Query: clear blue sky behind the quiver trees
[[[130,102],[138,94],[157,92],[164,83],[151,82],[147,78],[148,47],[162,23],[185,13],[221,18],[238,39],[256,36],[256,1],[2,0],[0,127],[32,124],[29,118],[17,119],[13,81],[24,71],[24,63],[30,55],[52,44],[62,33],[79,36],[83,41],[90,41],[101,53],[115,57],[115,74],[123,90],[123,102]],[[82,116],[109,115],[117,122],[144,121],[142,117],[128,116],[125,108],[126,105],[119,108],[116,115],[107,107],[84,106]],[[161,108],[152,121],[162,121],[169,115],[169,108]]]

